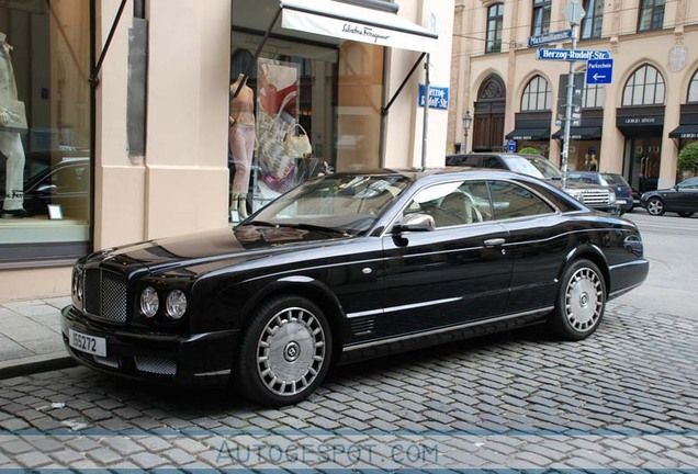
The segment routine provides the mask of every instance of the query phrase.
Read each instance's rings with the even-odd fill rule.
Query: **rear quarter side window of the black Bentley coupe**
[[[491,181],[489,192],[497,221],[554,213],[543,199],[509,181]]]

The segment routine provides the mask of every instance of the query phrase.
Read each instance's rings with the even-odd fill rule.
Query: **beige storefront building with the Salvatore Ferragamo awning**
[[[448,111],[419,84],[448,89],[453,11],[2,1],[0,298],[68,294],[88,251],[228,226],[319,170],[441,165]],[[304,157],[285,144],[301,129]]]

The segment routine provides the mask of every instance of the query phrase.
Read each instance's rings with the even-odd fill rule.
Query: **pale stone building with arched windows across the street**
[[[447,153],[463,142],[468,150],[511,145],[561,162],[570,61],[538,50],[572,47],[571,3],[457,0]],[[585,15],[576,49],[609,52],[612,77],[589,83],[600,75],[587,75],[585,60],[573,63],[581,93],[573,100],[570,169],[620,172],[637,191],[673,185],[682,179],[679,150],[698,138],[698,2],[578,4]]]

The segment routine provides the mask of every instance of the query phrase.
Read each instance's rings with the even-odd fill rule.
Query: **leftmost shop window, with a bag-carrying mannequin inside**
[[[89,250],[90,14],[83,0],[0,2],[0,266]],[[59,208],[59,213],[48,212]],[[58,207],[60,206],[60,207]],[[56,222],[60,216],[61,222]]]

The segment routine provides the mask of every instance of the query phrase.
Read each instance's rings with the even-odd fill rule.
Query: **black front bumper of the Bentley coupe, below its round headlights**
[[[79,363],[110,374],[162,383],[222,383],[230,375],[239,331],[223,330],[189,337],[114,327],[85,317],[74,306],[61,312],[63,340]],[[105,354],[70,346],[68,335],[102,338]]]

